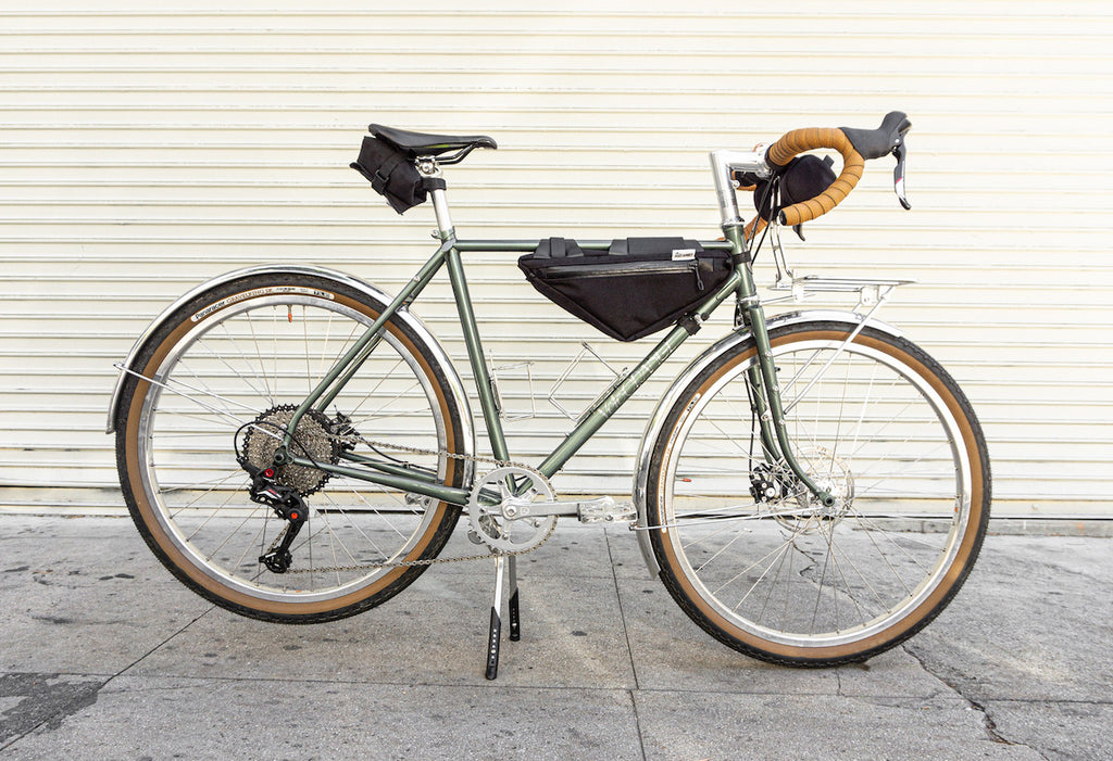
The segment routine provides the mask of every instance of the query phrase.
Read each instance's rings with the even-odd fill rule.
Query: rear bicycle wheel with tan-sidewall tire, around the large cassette
[[[290,410],[383,309],[327,278],[253,276],[193,299],[138,352],[132,370],[142,378],[127,378],[116,421],[120,484],[151,551],[201,597],[267,621],[328,621],[388,600],[426,568],[372,565],[443,549],[460,507],[290,468],[279,482],[305,494],[309,514],[290,548],[302,572],[273,573],[258,561],[286,522],[249,500],[234,435],[262,463]],[[345,451],[405,460],[462,487],[460,460],[368,442],[464,453],[464,431],[434,352],[391,320],[334,404],[298,423],[292,450],[314,461],[338,462]]]

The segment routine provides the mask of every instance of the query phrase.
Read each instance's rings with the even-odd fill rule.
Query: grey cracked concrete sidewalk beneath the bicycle
[[[622,529],[562,524],[520,569],[487,682],[489,563],[280,627],[186,590],[125,519],[0,515],[0,758],[1113,755],[1110,539],[992,535],[924,632],[824,671],[711,640]]]

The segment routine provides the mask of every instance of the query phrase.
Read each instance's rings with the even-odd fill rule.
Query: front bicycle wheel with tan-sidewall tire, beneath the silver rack
[[[788,439],[830,507],[762,445],[757,351],[739,343],[669,411],[647,519],[669,592],[736,650],[790,665],[865,660],[958,591],[989,518],[969,402],[913,343],[837,322],[770,332]]]

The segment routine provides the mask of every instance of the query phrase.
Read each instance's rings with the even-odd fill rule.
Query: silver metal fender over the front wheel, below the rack
[[[817,309],[778,314],[777,317],[768,320],[766,322],[766,327],[771,332],[775,329],[801,322],[843,322],[853,328],[857,328],[861,324],[863,317],[855,312]],[[866,320],[866,324],[876,330],[889,333],[893,337],[902,336],[899,330],[887,322],[881,322],[880,320],[869,319]],[[649,461],[652,458],[653,449],[657,445],[657,439],[661,435],[661,429],[664,427],[664,419],[669,415],[669,410],[671,410],[673,404],[676,404],[680,399],[681,393],[683,393],[684,389],[688,388],[688,384],[691,383],[692,380],[705,370],[705,368],[715,362],[721,354],[735,349],[738,344],[746,343],[750,340],[750,332],[742,328],[738,328],[708,347],[702,354],[693,359],[688,367],[680,371],[680,373],[672,381],[668,391],[666,391],[664,395],[661,397],[661,400],[657,403],[657,409],[653,410],[653,414],[650,415],[649,421],[646,423],[646,432],[641,438],[641,449],[638,451],[637,469],[634,470],[633,477],[633,504],[638,511],[638,529],[642,529],[648,525],[646,513],[646,491],[649,482]],[[649,567],[650,575],[656,577],[660,573],[661,568],[658,565],[657,559],[653,557],[653,549],[649,543],[649,532],[638,530],[636,533],[638,534],[638,544],[641,547],[641,554],[646,560],[646,565]]]

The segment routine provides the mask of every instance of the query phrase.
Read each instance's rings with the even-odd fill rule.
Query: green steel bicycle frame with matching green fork
[[[741,226],[723,226],[723,231],[726,240],[700,241],[700,244],[705,249],[725,250],[736,254],[735,261],[737,263],[730,278],[696,308],[691,319],[686,323],[687,327],[686,324],[674,326],[621,382],[617,383],[581,418],[577,427],[538,467],[538,470],[546,478],[560,471],[595,431],[672,356],[695,332],[695,329],[692,329],[693,324],[698,329],[698,326],[707,320],[716,308],[731,294],[737,294],[738,303],[742,309],[743,321],[746,327],[751,331],[758,350],[758,363],[748,372],[754,397],[754,411],[759,420],[765,458],[770,462],[784,460],[801,482],[821,501],[833,500],[827,492],[819,489],[808,479],[792,457],[785,430],[785,413],[780,402],[780,392],[777,387],[777,373],[772,363],[769,336],[766,331],[765,313],[761,309],[750,271],[747,241],[743,240]],[[461,254],[475,251],[529,252],[533,251],[538,247],[538,243],[539,241],[536,240],[456,240],[451,230],[442,233],[442,244],[436,252],[425,262],[417,274],[406,283],[390,306],[383,310],[383,313],[367,328],[363,337],[336,361],[332,370],[321,380],[313,392],[306,397],[295,411],[288,424],[283,445],[279,447],[275,454],[275,463],[283,464],[284,462],[290,462],[298,465],[317,468],[326,472],[402,489],[453,504],[466,504],[470,497],[469,490],[446,487],[440,483],[436,473],[432,471],[422,471],[413,467],[400,465],[397,462],[376,460],[352,453],[343,455],[352,464],[314,462],[313,460],[298,457],[290,451],[289,444],[293,439],[289,431],[296,429],[301,418],[311,408],[316,407],[316,409],[323,411],[333,402],[347,381],[358,372],[359,367],[374,351],[382,338],[382,331],[386,322],[400,309],[408,308],[441,268],[447,266],[449,279],[460,316],[464,344],[467,350],[469,361],[471,362],[473,378],[475,379],[475,389],[479,394],[483,420],[491,442],[491,450],[495,459],[509,460],[510,452],[506,447],[502,419],[500,418],[495,401],[491,374],[484,360],[483,347],[475,322],[475,314],[472,309],[471,297],[467,292],[467,282],[464,278]],[[609,242],[607,241],[581,242],[581,247],[588,250],[601,250],[608,246]]]

